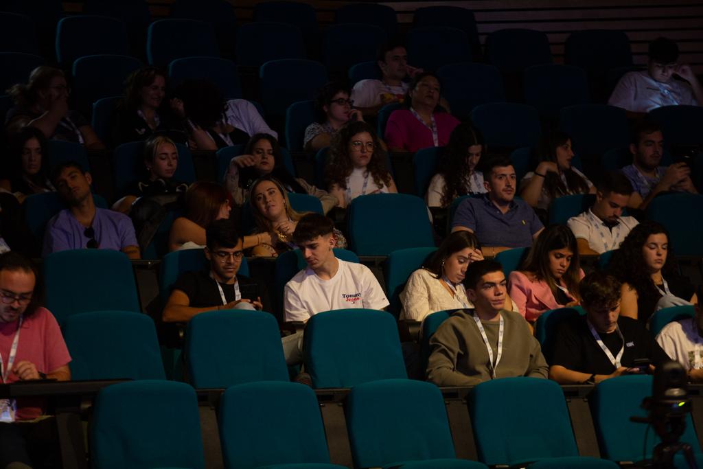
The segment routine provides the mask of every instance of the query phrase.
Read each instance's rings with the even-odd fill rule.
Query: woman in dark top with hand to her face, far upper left
[[[63,71],[41,65],[30,73],[29,82],[7,90],[15,107],[6,117],[8,134],[22,127],[37,127],[47,139],[82,143],[86,148],[105,148],[89,122],[68,109],[70,89]]]

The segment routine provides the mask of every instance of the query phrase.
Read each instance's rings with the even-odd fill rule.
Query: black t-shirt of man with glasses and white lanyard
[[[242,275],[237,276],[239,290],[245,300],[256,300],[261,296],[259,286],[251,278]],[[222,292],[227,302],[235,300],[234,285],[220,283]],[[181,275],[174,283],[174,290],[181,290],[190,300],[189,306],[193,308],[208,308],[222,304],[219,290],[208,271],[190,271]]]

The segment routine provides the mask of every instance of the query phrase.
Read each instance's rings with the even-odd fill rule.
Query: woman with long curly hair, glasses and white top
[[[351,122],[337,132],[325,175],[330,194],[342,208],[359,195],[398,192],[386,168],[381,142],[366,122]]]

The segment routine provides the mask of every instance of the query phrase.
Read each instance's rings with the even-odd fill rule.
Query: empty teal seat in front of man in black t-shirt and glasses
[[[193,316],[183,354],[188,379],[196,389],[288,381],[278,322],[263,311],[221,310]]]

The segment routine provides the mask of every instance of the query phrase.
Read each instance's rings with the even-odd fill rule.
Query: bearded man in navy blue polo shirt
[[[487,257],[531,246],[544,226],[532,207],[514,200],[517,178],[512,162],[505,157],[486,162],[484,186],[486,194],[467,198],[456,209],[451,231],[476,233]]]

